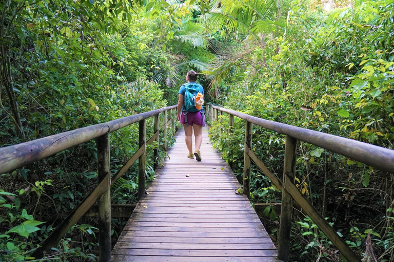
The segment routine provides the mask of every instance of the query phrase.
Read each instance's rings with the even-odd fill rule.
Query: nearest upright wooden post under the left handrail
[[[100,262],[111,260],[111,169],[109,133],[97,138],[97,179],[106,180],[106,190],[99,199],[99,256]]]

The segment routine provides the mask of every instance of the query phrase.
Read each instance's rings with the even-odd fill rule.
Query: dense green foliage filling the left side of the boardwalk
[[[167,2],[4,2],[0,8],[2,146],[178,101],[185,72],[205,69],[210,53],[204,27],[190,14],[197,8],[194,1]],[[18,112],[13,110],[15,104]],[[173,131],[167,129],[168,146],[174,142]],[[153,119],[148,119],[147,136],[152,135]],[[110,140],[114,173],[138,149],[138,126],[111,133]],[[147,148],[147,181],[155,177],[153,148],[159,149],[161,159],[166,157],[163,141]],[[0,260],[30,259],[32,249],[52,226],[97,184],[96,158],[95,142],[89,141],[2,175],[0,184],[10,193],[0,192],[4,205]],[[134,165],[111,187],[112,203],[136,201],[135,174]],[[6,194],[9,198],[3,198]],[[48,254],[51,259],[95,260],[96,221],[83,218],[80,223]],[[114,228],[121,225],[114,221]]]

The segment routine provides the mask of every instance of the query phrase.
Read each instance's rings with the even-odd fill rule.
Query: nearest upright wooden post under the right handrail
[[[279,225],[279,247],[278,258],[284,262],[289,261],[290,250],[290,232],[291,232],[291,215],[293,211],[293,199],[286,190],[286,177],[294,183],[295,157],[297,150],[297,139],[286,135],[285,145],[285,164],[283,170],[283,190],[282,190],[282,208],[281,222]]]

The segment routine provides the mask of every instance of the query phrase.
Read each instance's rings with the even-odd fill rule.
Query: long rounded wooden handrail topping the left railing
[[[46,157],[52,156],[67,148],[98,138],[106,133],[158,115],[177,105],[162,107],[128,117],[115,119],[102,124],[90,125],[64,133],[0,148],[0,174],[8,173]]]

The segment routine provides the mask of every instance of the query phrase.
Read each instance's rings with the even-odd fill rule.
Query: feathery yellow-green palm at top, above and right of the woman
[[[241,47],[219,48],[213,67],[204,71],[213,82],[220,82],[235,66],[249,64],[252,68],[261,64],[266,67],[266,37],[276,37],[286,32],[288,16],[287,0],[215,0],[204,19],[219,27],[227,26],[233,32],[245,34]],[[287,19],[286,19],[287,18]],[[256,48],[264,50],[263,59],[255,61],[249,54]],[[279,48],[275,50],[279,52]]]

